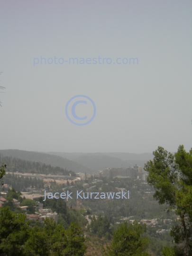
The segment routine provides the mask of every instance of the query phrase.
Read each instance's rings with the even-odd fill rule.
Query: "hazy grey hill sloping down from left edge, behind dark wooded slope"
[[[7,150],[0,150],[0,155],[3,156],[12,156],[15,158],[20,158],[27,161],[32,162],[41,162],[46,165],[52,166],[59,166],[63,169],[67,169],[68,171],[72,170],[75,173],[92,173],[92,169],[87,168],[86,166],[82,166],[77,162],[71,161],[69,159],[63,158],[58,155],[50,155],[45,153],[38,153],[32,151],[24,151],[18,149],[7,149]]]

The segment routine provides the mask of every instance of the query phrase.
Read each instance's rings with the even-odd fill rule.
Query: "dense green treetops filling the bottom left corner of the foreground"
[[[81,227],[71,223],[69,229],[45,219],[44,227],[29,227],[26,215],[9,207],[0,209],[0,255],[2,256],[83,256],[86,251]]]

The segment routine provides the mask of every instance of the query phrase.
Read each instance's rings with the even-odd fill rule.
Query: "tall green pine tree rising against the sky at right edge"
[[[174,248],[176,255],[191,256],[192,149],[188,153],[184,146],[179,146],[178,151],[172,154],[159,146],[153,154],[154,160],[145,165],[149,172],[147,181],[154,186],[154,198],[159,204],[166,202],[169,210],[174,210],[178,216],[178,223],[171,230],[177,244]]]

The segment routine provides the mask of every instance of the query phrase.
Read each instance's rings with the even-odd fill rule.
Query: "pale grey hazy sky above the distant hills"
[[[189,150],[191,31],[191,0],[0,0],[0,149]],[[96,107],[84,126],[76,95]],[[68,110],[93,115],[87,98]]]

